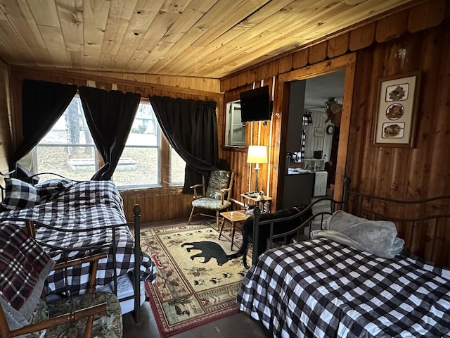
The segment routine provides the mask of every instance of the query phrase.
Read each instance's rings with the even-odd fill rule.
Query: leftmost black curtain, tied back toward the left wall
[[[22,132],[23,141],[8,163],[10,170],[39,143],[63,115],[77,86],[39,80],[22,82]]]

